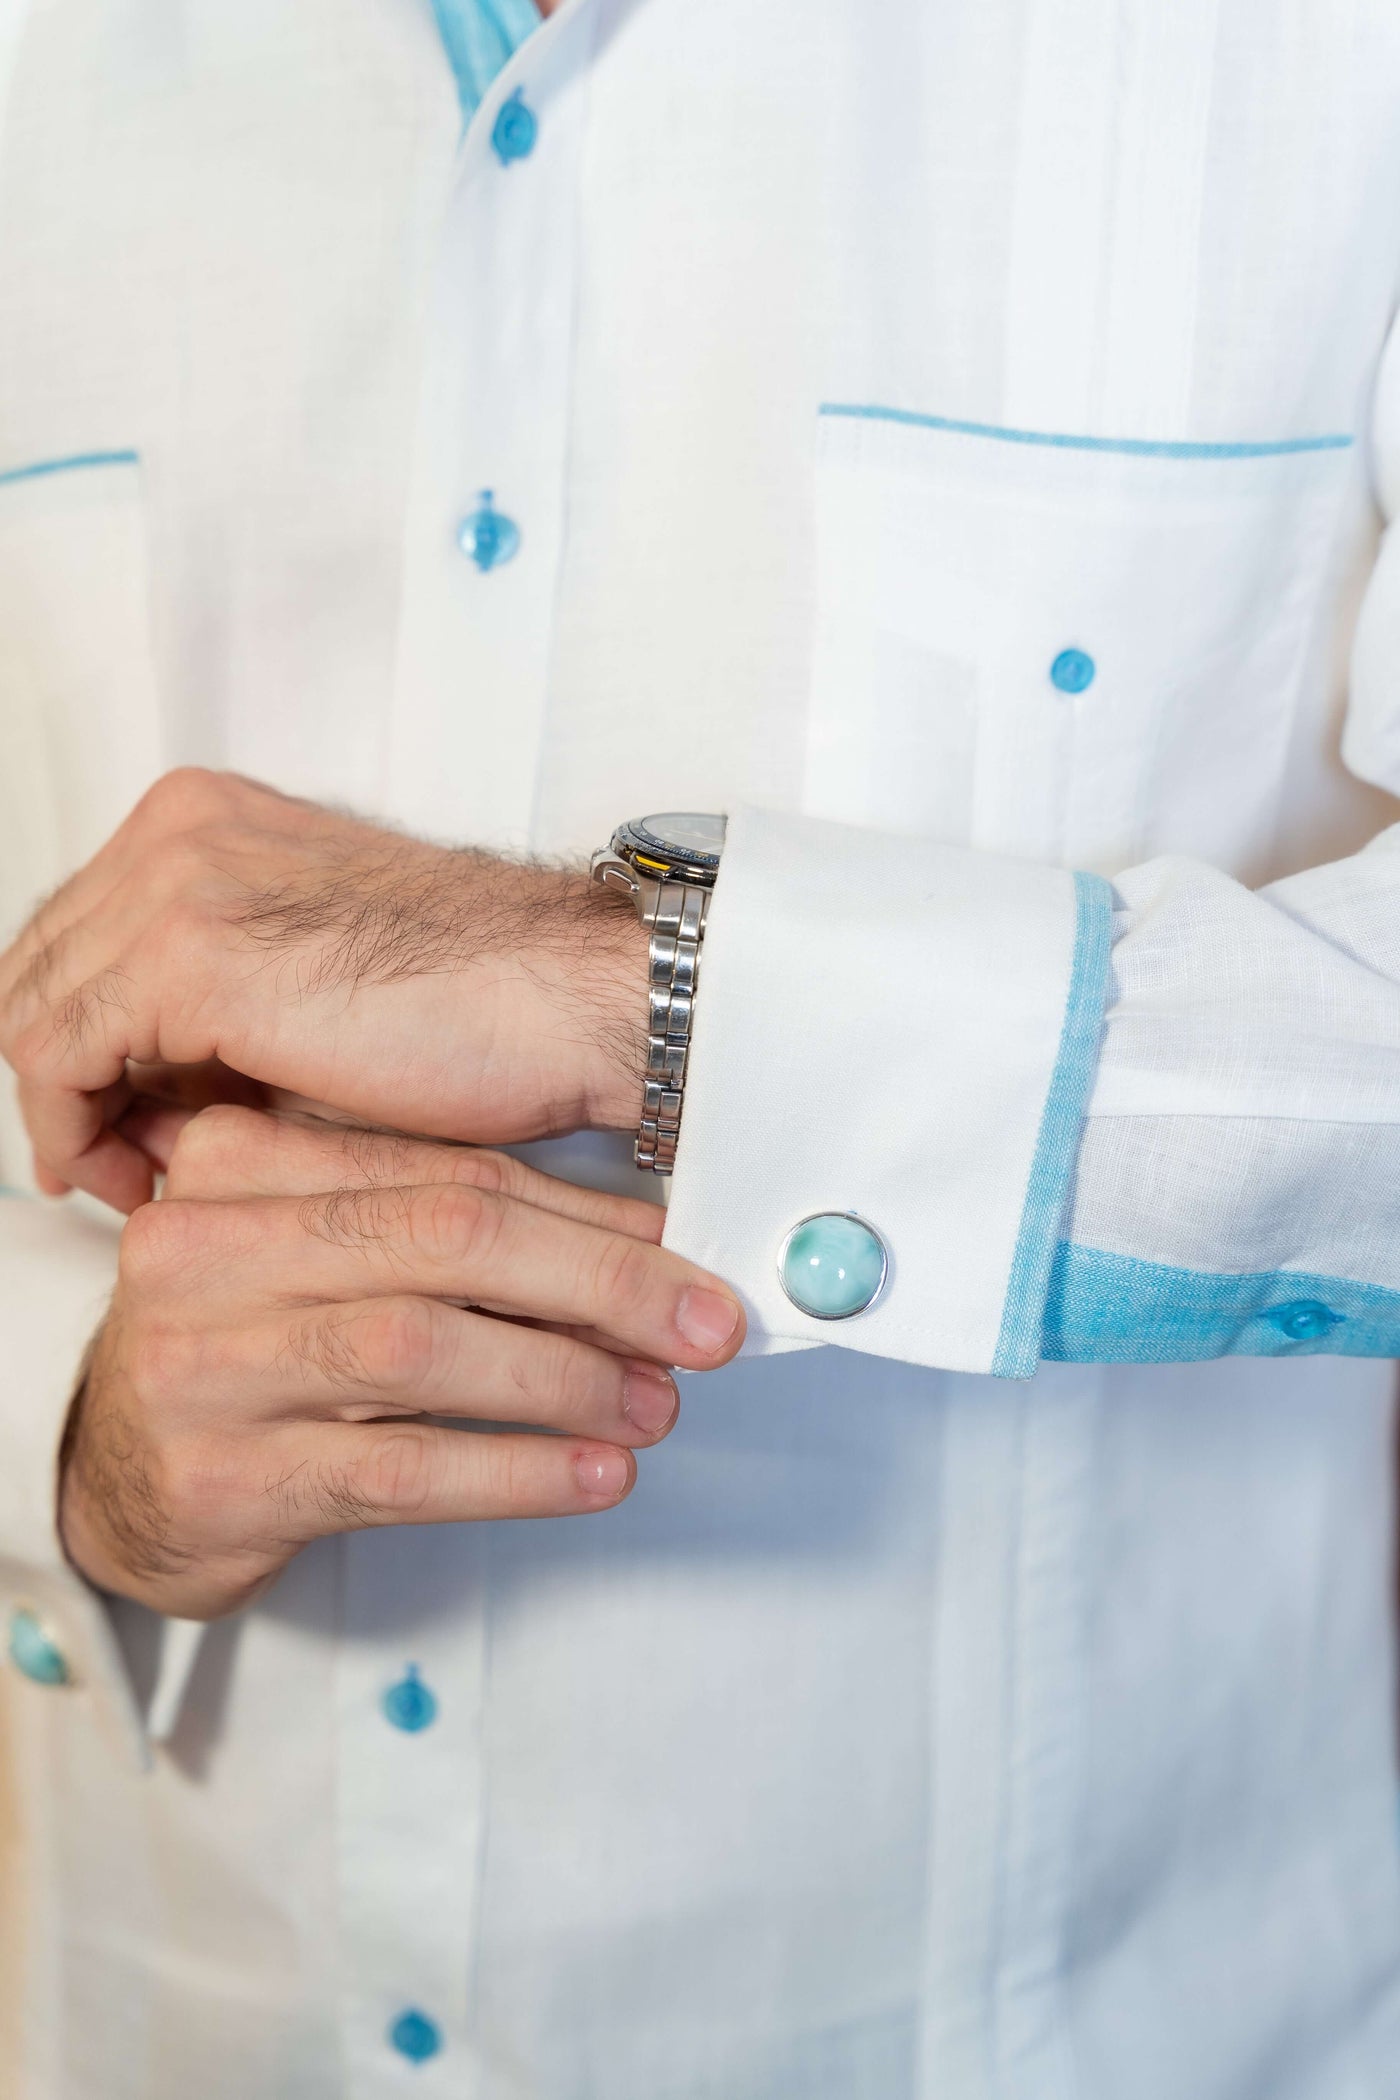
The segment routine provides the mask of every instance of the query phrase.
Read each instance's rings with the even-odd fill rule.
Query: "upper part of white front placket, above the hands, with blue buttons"
[[[386,806],[529,842],[565,542],[592,0],[470,118],[445,208],[405,523]]]

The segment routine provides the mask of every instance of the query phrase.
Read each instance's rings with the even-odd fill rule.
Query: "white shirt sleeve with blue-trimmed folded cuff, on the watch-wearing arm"
[[[1400,510],[1400,346],[1377,479]],[[1400,527],[1356,632],[1343,758],[1400,788]],[[888,1275],[840,1323],[791,1228],[856,1212]],[[1400,1357],[1400,827],[1249,890],[1112,884],[772,811],[730,823],[667,1243],[749,1350],[955,1371],[1043,1359]]]

